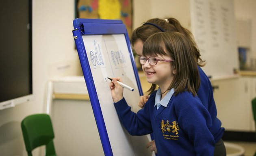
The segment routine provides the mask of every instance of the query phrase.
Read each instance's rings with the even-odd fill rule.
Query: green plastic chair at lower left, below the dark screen
[[[21,128],[28,156],[32,156],[32,151],[42,145],[46,145],[46,156],[56,156],[54,132],[49,115],[29,115],[22,120]]]

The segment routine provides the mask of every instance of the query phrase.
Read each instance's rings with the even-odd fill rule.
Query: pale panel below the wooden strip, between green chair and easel
[[[52,124],[60,156],[104,155],[90,101],[53,100]]]

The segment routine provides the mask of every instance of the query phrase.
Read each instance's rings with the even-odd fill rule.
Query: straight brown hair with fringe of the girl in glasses
[[[176,94],[182,91],[190,91],[193,95],[200,86],[200,76],[195,58],[193,42],[180,32],[154,33],[143,45],[144,56],[167,55],[174,59],[170,62],[176,69],[174,79],[167,90],[174,88]],[[156,89],[156,85],[149,90],[150,94]]]

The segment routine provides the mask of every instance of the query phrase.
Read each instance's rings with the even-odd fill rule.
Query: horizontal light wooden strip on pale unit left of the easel
[[[90,100],[89,95],[86,94],[59,94],[54,93],[53,99],[66,99],[66,100]]]

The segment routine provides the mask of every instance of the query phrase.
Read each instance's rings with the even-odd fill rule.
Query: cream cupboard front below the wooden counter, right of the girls
[[[252,131],[252,110],[249,102],[250,78],[216,80],[213,86],[217,117],[226,130]]]

